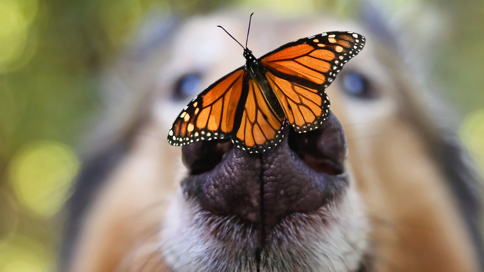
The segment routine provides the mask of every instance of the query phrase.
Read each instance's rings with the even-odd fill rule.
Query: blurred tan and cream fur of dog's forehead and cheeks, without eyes
[[[156,100],[137,105],[140,110],[148,108],[148,113],[130,132],[134,136],[129,150],[95,195],[82,221],[69,271],[172,271],[160,250],[160,233],[163,222],[170,220],[166,209],[179,197],[177,187],[186,170],[181,149],[169,146],[165,137],[186,102],[172,102],[169,95],[177,76],[192,69],[203,69],[205,87],[243,64],[241,48],[215,28],[218,24],[235,37],[245,35],[245,17],[189,20],[164,48],[171,56],[158,52],[161,57],[155,54],[144,64],[144,76],[126,83],[136,86],[143,79],[151,80],[140,85],[147,85],[149,92],[154,89]],[[410,100],[402,98],[413,97],[409,89],[415,86],[401,74],[406,67],[394,51],[358,24],[278,22],[260,17],[253,22],[249,48],[261,56],[289,41],[331,30],[366,36],[367,45],[343,72],[359,71],[378,92],[378,98],[371,101],[348,97],[338,83],[340,75],[327,89],[348,141],[349,190],[359,199],[358,209],[367,222],[368,237],[361,250],[369,257],[369,271],[478,271],[456,199],[406,112],[419,106],[418,99],[409,106]]]

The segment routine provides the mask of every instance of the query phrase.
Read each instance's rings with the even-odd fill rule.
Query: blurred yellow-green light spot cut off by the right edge
[[[464,118],[460,127],[460,138],[484,176],[484,108],[477,109]]]

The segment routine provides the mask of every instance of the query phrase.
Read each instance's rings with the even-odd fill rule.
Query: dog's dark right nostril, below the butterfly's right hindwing
[[[321,126],[311,132],[289,132],[289,147],[311,168],[328,174],[342,174],[346,140],[338,119],[330,113]]]

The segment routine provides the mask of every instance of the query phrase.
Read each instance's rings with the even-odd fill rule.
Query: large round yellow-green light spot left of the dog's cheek
[[[35,141],[15,154],[9,178],[20,204],[37,215],[58,212],[77,171],[79,160],[67,145],[56,141]]]

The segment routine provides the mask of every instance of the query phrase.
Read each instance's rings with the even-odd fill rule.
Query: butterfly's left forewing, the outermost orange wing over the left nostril
[[[245,70],[237,69],[197,95],[168,132],[168,142],[185,145],[198,140],[230,139],[239,127],[246,91]]]

